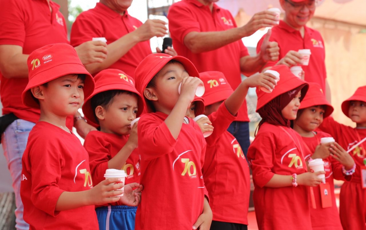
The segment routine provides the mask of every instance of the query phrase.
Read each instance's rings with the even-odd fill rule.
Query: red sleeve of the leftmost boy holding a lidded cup
[[[32,186],[31,201],[33,205],[51,216],[56,216],[56,203],[64,190],[58,184],[61,179],[61,168],[67,162],[60,151],[61,144],[51,139],[39,138],[29,152]]]

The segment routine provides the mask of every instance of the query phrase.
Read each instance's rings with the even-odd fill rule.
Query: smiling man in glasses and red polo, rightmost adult
[[[279,61],[269,61],[264,68],[273,65],[284,64],[288,67],[300,65],[301,55],[299,49],[310,49],[311,56],[309,65],[302,65],[307,82],[320,84],[328,101],[330,101],[330,90],[326,81],[325,70],[325,49],[324,41],[320,33],[306,26],[306,23],[313,17],[316,2],[315,0],[280,0],[281,7],[285,11],[283,21],[272,28],[270,41],[276,41],[280,47]],[[258,42],[257,52],[260,52],[260,45],[264,37]]]

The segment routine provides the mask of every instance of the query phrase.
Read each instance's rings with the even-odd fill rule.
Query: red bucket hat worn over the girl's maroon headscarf
[[[276,65],[270,69],[280,73],[280,80],[277,82],[277,85],[273,89],[272,93],[265,93],[257,87],[255,90],[258,96],[257,110],[255,110],[256,112],[258,112],[260,108],[272,101],[272,99],[276,98],[277,96],[302,85],[304,86],[301,89],[301,95],[302,98],[304,98],[307,89],[309,88],[309,84],[296,77],[286,65]]]

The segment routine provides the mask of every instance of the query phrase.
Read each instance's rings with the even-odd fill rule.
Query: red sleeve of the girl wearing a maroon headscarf
[[[257,135],[248,149],[250,155],[253,180],[259,187],[264,187],[275,175],[272,172],[273,155],[276,151],[276,143],[273,133],[263,132]]]

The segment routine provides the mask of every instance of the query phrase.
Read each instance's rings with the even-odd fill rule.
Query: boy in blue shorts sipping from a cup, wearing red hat
[[[91,178],[98,183],[107,169],[118,169],[126,172],[126,184],[139,183],[138,122],[131,127],[131,121],[143,111],[141,95],[131,76],[119,69],[102,70],[94,80],[96,88],[83,105],[87,120],[100,126],[100,131],[89,132],[84,142]],[[99,229],[133,230],[136,209],[120,201],[97,207]]]

